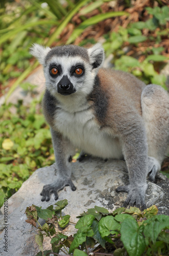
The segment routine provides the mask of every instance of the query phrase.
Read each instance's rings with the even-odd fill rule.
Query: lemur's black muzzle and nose
[[[62,79],[59,81],[57,87],[58,93],[65,96],[76,92],[68,76],[63,76]]]

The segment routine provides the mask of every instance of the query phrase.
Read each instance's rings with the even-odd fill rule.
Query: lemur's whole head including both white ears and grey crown
[[[100,44],[90,49],[73,45],[50,49],[34,45],[31,52],[43,65],[46,87],[56,97],[89,94],[104,58]]]

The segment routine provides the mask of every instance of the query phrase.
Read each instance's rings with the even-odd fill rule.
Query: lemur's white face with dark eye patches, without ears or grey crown
[[[68,96],[90,88],[92,68],[80,56],[53,56],[44,67],[46,87],[54,95]]]

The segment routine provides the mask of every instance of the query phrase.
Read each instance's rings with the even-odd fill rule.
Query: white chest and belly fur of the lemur
[[[100,130],[90,109],[69,113],[60,109],[55,114],[55,126],[74,146],[85,153],[102,158],[122,158],[118,138]]]

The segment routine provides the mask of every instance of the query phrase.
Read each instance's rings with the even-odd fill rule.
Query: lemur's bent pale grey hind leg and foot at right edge
[[[143,90],[141,103],[148,142],[149,179],[154,181],[169,144],[169,96],[160,86],[149,84]]]

